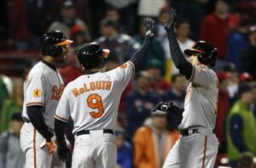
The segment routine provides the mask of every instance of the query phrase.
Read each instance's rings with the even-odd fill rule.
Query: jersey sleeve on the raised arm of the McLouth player
[[[127,61],[125,64],[122,64],[118,68],[112,70],[111,73],[115,75],[115,81],[119,82],[120,89],[124,90],[134,77],[135,67],[131,61]]]

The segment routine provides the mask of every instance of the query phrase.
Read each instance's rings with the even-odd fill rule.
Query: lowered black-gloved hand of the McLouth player
[[[71,157],[70,148],[67,147],[67,143],[65,141],[58,143],[57,154],[59,159],[63,162],[66,162]]]

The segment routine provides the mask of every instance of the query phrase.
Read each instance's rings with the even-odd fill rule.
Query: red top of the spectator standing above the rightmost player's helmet
[[[208,14],[201,24],[201,40],[211,43],[218,48],[218,59],[227,56],[227,36],[239,20],[236,15],[229,14],[226,19],[219,18],[216,14]]]

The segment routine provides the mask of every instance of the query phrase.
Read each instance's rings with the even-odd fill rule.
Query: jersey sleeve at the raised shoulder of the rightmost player
[[[212,73],[212,70],[208,69],[204,64],[195,65],[193,66],[192,75],[189,81],[196,86],[209,87],[215,80]]]

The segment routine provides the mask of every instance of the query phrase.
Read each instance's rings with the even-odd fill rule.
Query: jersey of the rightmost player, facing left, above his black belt
[[[218,104],[218,78],[204,64],[195,65],[184,104],[183,120],[179,129],[203,126],[214,129]]]

